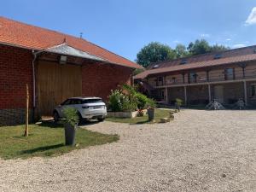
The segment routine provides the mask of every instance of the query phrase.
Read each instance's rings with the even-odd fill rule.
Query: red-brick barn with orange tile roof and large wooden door
[[[0,17],[0,125],[51,115],[70,96],[101,96],[131,84],[139,66],[83,38]]]

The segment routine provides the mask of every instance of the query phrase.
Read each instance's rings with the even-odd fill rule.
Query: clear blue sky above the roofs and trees
[[[8,0],[0,15],[83,37],[134,61],[151,41],[256,44],[254,0]]]

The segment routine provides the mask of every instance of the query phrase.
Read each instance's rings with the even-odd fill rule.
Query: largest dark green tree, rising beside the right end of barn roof
[[[138,52],[137,63],[143,67],[148,67],[151,62],[166,61],[175,58],[176,53],[170,46],[152,42]]]

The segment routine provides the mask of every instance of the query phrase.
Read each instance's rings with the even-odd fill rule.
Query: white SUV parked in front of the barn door
[[[82,119],[98,119],[103,121],[107,116],[106,104],[100,97],[71,97],[62,102],[53,112],[55,121],[63,118],[64,108],[76,108],[79,113],[80,122]]]

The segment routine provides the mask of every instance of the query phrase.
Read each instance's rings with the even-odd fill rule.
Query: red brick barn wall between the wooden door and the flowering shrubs
[[[83,96],[100,96],[108,99],[110,90],[119,85],[131,84],[132,69],[110,64],[84,64],[82,67]]]

